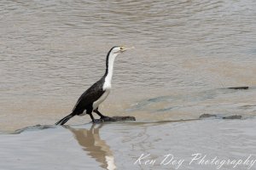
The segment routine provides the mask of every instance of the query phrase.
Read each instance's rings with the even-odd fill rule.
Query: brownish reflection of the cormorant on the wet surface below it
[[[101,164],[101,167],[113,170],[116,169],[113,153],[108,144],[100,137],[99,131],[102,126],[102,124],[93,124],[89,130],[86,128],[65,127],[73,133],[74,138],[78,140],[83,150],[88,152],[89,156],[95,158]]]

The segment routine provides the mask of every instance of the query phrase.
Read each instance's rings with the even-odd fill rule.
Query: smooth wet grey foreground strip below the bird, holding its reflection
[[[217,169],[219,163],[243,160],[256,168],[255,118],[186,122],[113,122],[105,124],[30,127],[0,135],[2,169]],[[42,129],[44,128],[44,129]],[[137,161],[144,154],[144,159]],[[150,154],[150,156],[148,156]],[[172,155],[164,161],[166,155]],[[155,160],[154,165],[147,160]],[[184,160],[181,165],[178,161]],[[162,164],[160,162],[164,161]],[[201,163],[200,163],[201,161]],[[145,165],[145,163],[147,165]],[[224,164],[221,169],[232,169]],[[235,169],[247,169],[237,165]]]

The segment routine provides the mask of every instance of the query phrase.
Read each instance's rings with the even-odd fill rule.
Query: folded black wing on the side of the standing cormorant
[[[84,94],[79,97],[77,104],[73,108],[73,113],[81,114],[85,109],[92,105],[94,101],[99,99],[102,94],[104,94],[102,89],[103,83],[104,80],[101,79],[88,88]]]

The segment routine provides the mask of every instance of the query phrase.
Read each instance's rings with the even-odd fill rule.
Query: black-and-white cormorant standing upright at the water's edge
[[[104,118],[110,118],[102,115],[102,113],[99,111],[99,105],[101,105],[102,102],[107,99],[111,90],[114,59],[128,49],[131,48],[114,46],[108,51],[106,58],[106,71],[103,77],[88,88],[79,97],[76,105],[73,107],[73,111],[69,115],[63,117],[60,121],[56,122],[55,125],[64,125],[73,116],[84,116],[86,114],[90,116],[91,121],[94,123],[97,121],[101,122]],[[92,112],[95,112],[98,116],[100,116],[100,120],[96,120],[92,115]]]

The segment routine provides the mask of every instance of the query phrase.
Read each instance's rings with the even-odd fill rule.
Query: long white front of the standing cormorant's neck
[[[103,85],[103,90],[108,90],[111,88],[111,81],[112,81],[112,77],[113,77],[113,62],[114,62],[114,59],[116,58],[118,54],[112,54],[110,53],[108,55],[108,59],[107,59],[107,63],[106,63],[106,73],[105,73],[105,82],[104,82],[104,85]]]

